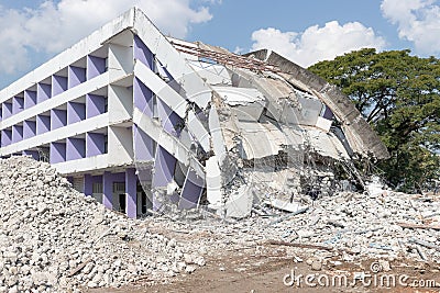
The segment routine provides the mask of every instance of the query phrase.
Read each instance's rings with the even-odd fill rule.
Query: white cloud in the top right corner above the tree
[[[383,15],[420,54],[440,53],[440,5],[436,0],[383,0]]]

